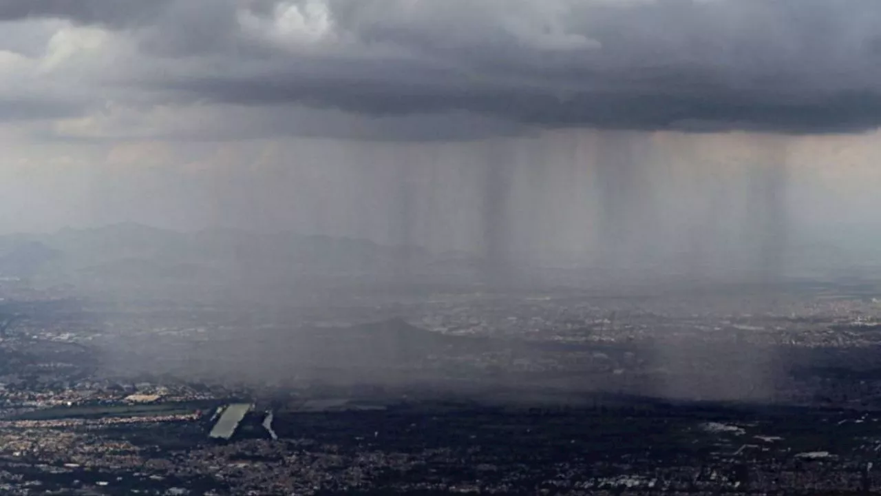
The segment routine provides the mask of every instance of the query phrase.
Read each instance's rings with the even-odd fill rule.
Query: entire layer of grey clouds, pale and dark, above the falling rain
[[[49,126],[59,138],[881,119],[871,0],[10,0],[0,19],[0,118],[82,119]],[[178,112],[234,122],[180,129]]]

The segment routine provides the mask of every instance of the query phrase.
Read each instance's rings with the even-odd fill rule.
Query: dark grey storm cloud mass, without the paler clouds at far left
[[[875,0],[0,2],[0,19],[26,18],[136,41],[139,58],[102,76],[141,101],[689,132],[881,124]]]

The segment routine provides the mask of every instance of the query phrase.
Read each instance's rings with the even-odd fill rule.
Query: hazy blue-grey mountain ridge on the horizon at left
[[[435,260],[419,247],[365,239],[226,228],[179,232],[137,223],[0,236],[0,275],[78,286],[392,278],[433,270]]]

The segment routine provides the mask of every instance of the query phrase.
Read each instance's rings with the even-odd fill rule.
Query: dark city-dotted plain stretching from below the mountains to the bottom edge
[[[4,494],[881,491],[869,282],[333,307],[5,290]]]

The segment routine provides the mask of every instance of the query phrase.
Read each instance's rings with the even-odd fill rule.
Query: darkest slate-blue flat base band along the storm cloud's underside
[[[881,94],[870,91],[792,99],[786,94],[774,97],[725,89],[691,94],[604,90],[560,98],[540,90],[498,86],[419,88],[307,78],[289,82],[193,79],[176,87],[219,102],[252,105],[294,102],[381,116],[456,109],[550,127],[857,132],[881,123]]]

